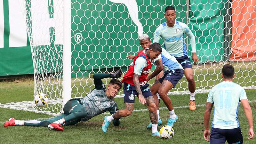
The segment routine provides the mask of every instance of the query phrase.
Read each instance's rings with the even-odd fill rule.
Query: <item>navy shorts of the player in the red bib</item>
[[[142,92],[142,95],[144,98],[153,96],[150,92],[150,89],[148,87],[148,83],[144,84],[143,86],[140,86],[140,90]],[[138,92],[136,91],[135,86],[131,84],[124,83],[124,102],[134,103],[134,96],[138,95]]]

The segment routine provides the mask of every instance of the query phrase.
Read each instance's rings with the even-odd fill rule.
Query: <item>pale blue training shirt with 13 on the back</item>
[[[243,99],[247,99],[247,96],[244,88],[238,84],[224,81],[214,86],[207,98],[207,102],[214,104],[212,127],[238,128],[238,105]]]

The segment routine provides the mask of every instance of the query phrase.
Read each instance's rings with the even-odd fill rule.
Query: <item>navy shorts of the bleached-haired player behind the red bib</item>
[[[182,76],[183,76],[183,69],[174,69],[174,70],[164,72],[164,76],[159,78],[158,81],[162,83],[164,79],[166,79],[169,82],[171,82],[172,85],[175,87],[178,81],[182,78]]]

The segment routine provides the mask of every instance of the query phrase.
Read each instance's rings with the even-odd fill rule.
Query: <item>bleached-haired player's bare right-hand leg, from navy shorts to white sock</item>
[[[172,100],[168,97],[167,92],[169,92],[173,88],[173,85],[168,80],[164,80],[159,87],[158,94],[161,99],[164,101],[164,104],[169,109],[169,111],[173,110]]]

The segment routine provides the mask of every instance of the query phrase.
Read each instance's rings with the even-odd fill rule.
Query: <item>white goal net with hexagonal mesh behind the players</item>
[[[140,49],[138,37],[148,34],[153,41],[156,27],[165,22],[164,9],[176,8],[176,20],[186,23],[196,37],[199,65],[193,66],[196,93],[208,92],[221,82],[225,63],[235,67],[235,82],[255,89],[255,1],[239,0],[71,0],[71,8],[63,8],[63,0],[20,0],[27,21],[34,63],[35,91],[49,97],[46,108],[33,101],[1,105],[59,115],[63,90],[63,10],[71,12],[71,97],[86,96],[93,88],[92,76],[97,72],[124,73],[131,64],[128,54]],[[188,56],[191,46],[185,38]],[[163,44],[163,41],[160,41]],[[192,62],[192,60],[191,60]],[[193,64],[193,63],[192,63]],[[110,79],[103,79],[108,84]],[[154,80],[150,81],[153,84]],[[184,76],[169,94],[188,93]],[[120,91],[117,97],[122,97]]]

